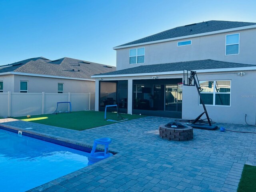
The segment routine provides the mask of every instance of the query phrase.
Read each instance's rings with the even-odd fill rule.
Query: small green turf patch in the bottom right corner
[[[256,191],[256,166],[244,165],[238,192]]]

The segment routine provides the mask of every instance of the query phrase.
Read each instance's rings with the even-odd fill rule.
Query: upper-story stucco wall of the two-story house
[[[240,53],[238,55],[225,56],[226,35],[235,33],[240,33]],[[256,64],[255,36],[256,29],[250,29],[118,49],[116,50],[116,70],[136,67],[140,65],[205,59]],[[177,42],[185,40],[192,40],[192,44],[187,46],[177,46]],[[131,48],[139,47],[145,47],[145,63],[129,64],[129,50]]]

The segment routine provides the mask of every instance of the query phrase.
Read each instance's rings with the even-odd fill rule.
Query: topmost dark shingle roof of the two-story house
[[[145,42],[151,42],[151,41],[157,41],[157,40],[164,40],[169,38],[176,38],[176,37],[182,37],[182,36],[188,36],[188,35],[194,35],[194,34],[200,34],[200,33],[206,33],[206,32],[218,31],[218,30],[225,30],[225,29],[231,29],[231,28],[237,28],[237,27],[244,27],[244,26],[250,26],[250,25],[256,25],[256,23],[211,20],[211,21],[176,27],[173,29],[169,29],[169,30],[154,34],[154,35],[147,36],[145,38],[141,38],[139,40],[122,44],[120,46],[145,43]]]

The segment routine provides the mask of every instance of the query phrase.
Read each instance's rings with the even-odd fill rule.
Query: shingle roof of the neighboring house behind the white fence
[[[6,72],[19,72],[25,74],[40,74],[46,76],[82,79],[91,79],[93,74],[112,72],[114,70],[116,70],[116,67],[114,66],[67,57],[54,61],[38,57],[0,66],[0,74]]]

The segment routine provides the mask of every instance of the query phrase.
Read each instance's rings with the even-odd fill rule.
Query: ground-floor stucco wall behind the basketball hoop
[[[238,72],[198,74],[199,80],[231,80],[230,106],[206,106],[213,121],[245,124],[247,114],[247,122],[256,124],[256,71],[243,72],[246,75],[238,76]],[[183,86],[182,91],[182,118],[195,119],[204,112],[203,106],[198,104],[198,92],[194,86]]]

